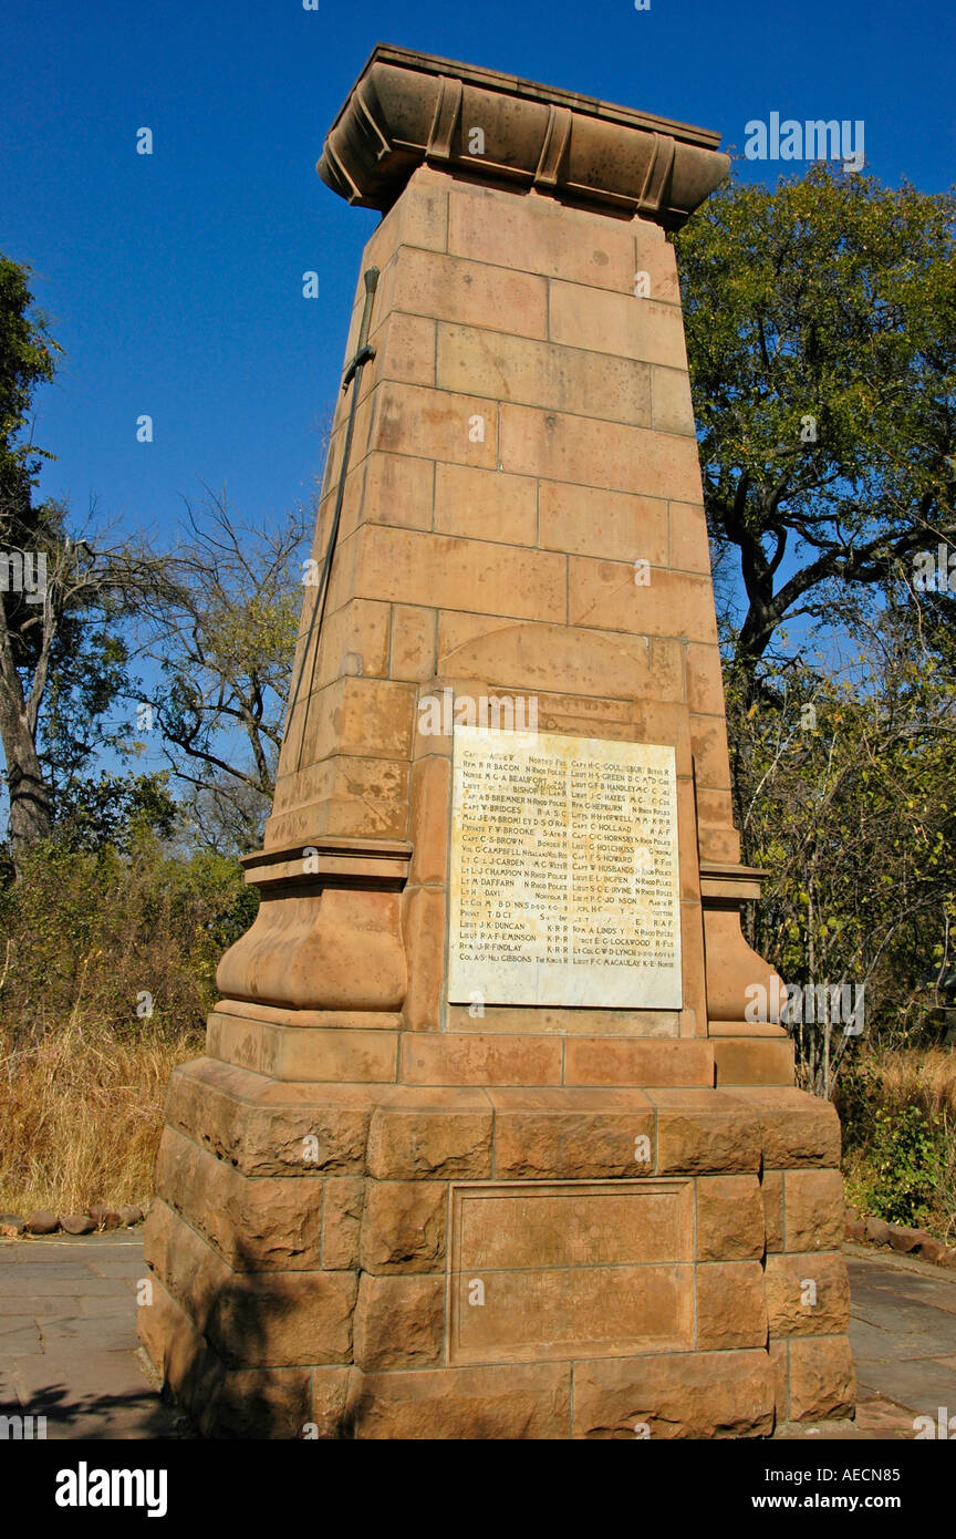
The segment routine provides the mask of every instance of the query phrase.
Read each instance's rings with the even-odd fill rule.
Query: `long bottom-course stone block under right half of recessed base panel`
[[[575,1437],[761,1437],[773,1390],[761,1350],[575,1364]]]

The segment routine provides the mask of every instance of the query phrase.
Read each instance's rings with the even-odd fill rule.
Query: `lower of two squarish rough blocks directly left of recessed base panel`
[[[355,1311],[358,1367],[430,1368],[441,1362],[444,1293],[444,1277],[364,1274]]]

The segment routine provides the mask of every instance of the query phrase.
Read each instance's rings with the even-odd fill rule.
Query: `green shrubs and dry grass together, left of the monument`
[[[149,1197],[169,1074],[203,1051],[215,963],[254,913],[237,862],[148,837],[40,846],[0,888],[0,1210]]]

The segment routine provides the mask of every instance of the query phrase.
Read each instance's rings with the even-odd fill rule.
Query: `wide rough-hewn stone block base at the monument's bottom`
[[[670,1085],[177,1070],[140,1333],[200,1433],[755,1437],[851,1414],[833,1107],[773,1083],[776,1034],[627,1047]]]

